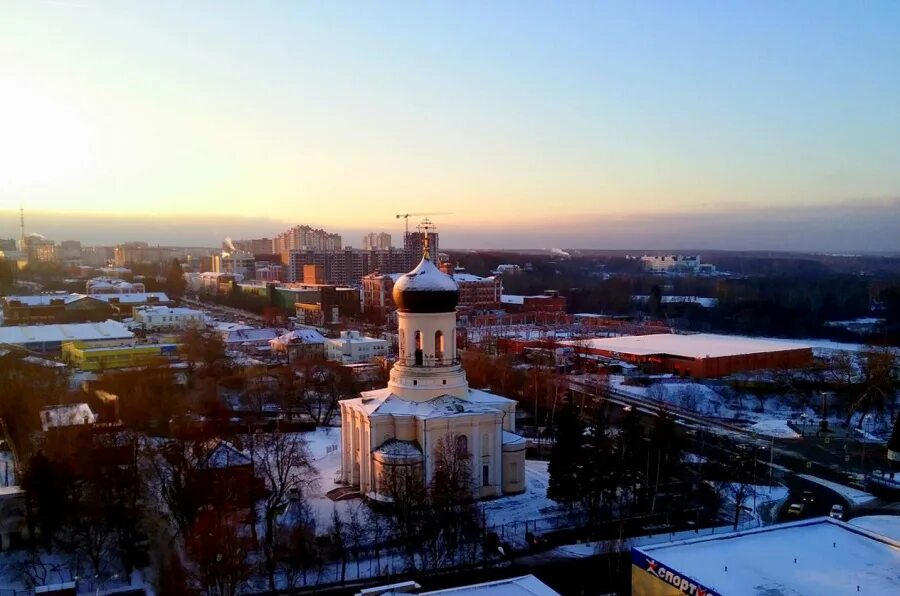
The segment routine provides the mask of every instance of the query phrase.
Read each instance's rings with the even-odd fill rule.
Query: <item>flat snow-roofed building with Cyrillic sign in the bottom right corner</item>
[[[900,542],[831,518],[631,549],[633,596],[900,594]]]

